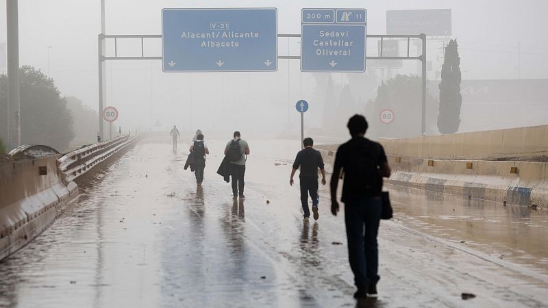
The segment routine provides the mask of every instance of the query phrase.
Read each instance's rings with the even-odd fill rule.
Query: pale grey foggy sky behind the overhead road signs
[[[518,42],[521,44],[521,78],[548,77],[548,42],[545,40],[548,28],[543,25],[548,1],[544,0],[106,0],[106,32],[161,34],[162,8],[227,7],[277,8],[279,34],[300,32],[301,8],[366,8],[368,34],[386,34],[386,10],[450,8],[451,38],[459,40],[463,79],[517,77]],[[51,46],[51,77],[62,94],[78,97],[97,109],[100,0],[19,0],[19,24],[20,64],[36,66],[47,73],[47,53]],[[0,42],[5,42],[5,0],[0,1]],[[119,41],[119,54],[130,53],[132,48],[134,52],[136,46]],[[429,60],[435,60],[440,53],[438,47],[438,44],[429,46]],[[376,49],[371,48],[368,47],[368,53]],[[289,49],[292,55],[299,55],[297,40],[290,42]],[[146,50],[160,55],[160,41],[147,46]],[[279,55],[286,55],[287,51],[287,40],[280,39]],[[276,119],[275,129],[285,129],[287,121],[290,129],[297,129],[299,117],[294,110],[295,101],[310,100],[314,78],[310,73],[300,73],[299,60],[279,60],[278,67],[277,73],[162,73],[160,61],[111,61],[107,64],[105,105],[114,105],[120,110],[116,124],[123,127],[145,128],[150,126],[151,119],[158,119],[162,128],[173,124],[184,129],[221,125],[232,130],[234,120],[227,114],[237,110],[238,119],[247,122],[247,129],[258,127],[269,118]],[[416,65],[409,67],[414,70]],[[338,84],[345,80],[340,73],[333,77]],[[252,103],[240,103],[248,99]],[[321,110],[314,110],[314,101],[310,101],[310,105],[308,125],[319,125]]]

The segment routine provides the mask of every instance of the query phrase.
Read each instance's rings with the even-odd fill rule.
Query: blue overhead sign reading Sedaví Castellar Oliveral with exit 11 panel
[[[365,9],[301,10],[301,71],[364,72]]]

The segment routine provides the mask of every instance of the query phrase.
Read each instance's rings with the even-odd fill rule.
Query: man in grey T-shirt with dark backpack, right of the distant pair
[[[239,131],[234,131],[234,139],[227,143],[225,155],[228,156],[230,162],[233,198],[236,199],[240,196],[240,199],[244,199],[245,161],[249,155],[249,145],[245,140],[242,140]]]

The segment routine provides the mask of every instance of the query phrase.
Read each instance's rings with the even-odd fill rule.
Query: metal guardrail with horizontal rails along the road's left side
[[[58,159],[62,179],[74,181],[97,164],[105,161],[135,140],[136,136],[120,136],[111,140],[91,144],[82,149],[72,151]]]

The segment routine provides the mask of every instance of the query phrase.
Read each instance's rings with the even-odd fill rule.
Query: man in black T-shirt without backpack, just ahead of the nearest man
[[[310,209],[308,209],[308,194],[312,198],[312,211],[314,212],[314,220],[318,220],[318,168],[321,170],[321,183],[325,185],[325,170],[323,168],[323,159],[319,151],[313,149],[314,140],[312,138],[305,138],[303,140],[304,149],[297,153],[295,163],[293,163],[293,170],[291,170],[291,177],[289,179],[289,185],[293,185],[293,176],[295,172],[301,167],[299,174],[299,181],[301,182],[301,203],[303,205],[304,220],[308,221],[310,217]]]

